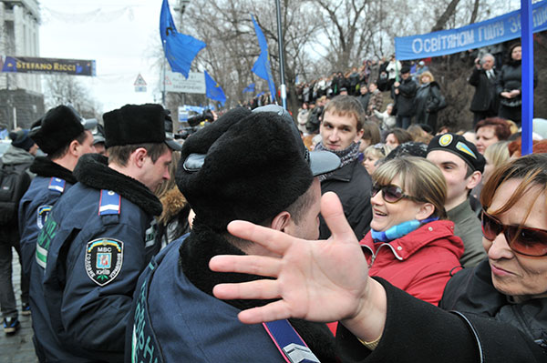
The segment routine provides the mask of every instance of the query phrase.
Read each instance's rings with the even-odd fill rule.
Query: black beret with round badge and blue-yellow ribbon
[[[475,144],[457,134],[442,134],[433,137],[428,145],[428,153],[432,150],[448,151],[463,159],[473,171],[484,171],[486,160],[480,155]]]

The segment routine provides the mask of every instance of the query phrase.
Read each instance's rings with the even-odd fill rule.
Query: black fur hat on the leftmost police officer
[[[70,144],[85,130],[97,126],[97,120],[86,120],[72,106],[57,106],[46,112],[29,133],[43,152],[52,154]],[[37,125],[38,121],[35,124]]]

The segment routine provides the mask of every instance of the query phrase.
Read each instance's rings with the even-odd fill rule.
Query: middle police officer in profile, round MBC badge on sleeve
[[[161,204],[152,191],[169,178],[171,148],[159,105],[127,105],[103,116],[108,159],[82,157],[78,183],[57,202],[36,243],[44,271],[36,335],[40,358],[120,361],[123,334],[139,273],[157,251],[152,217]],[[36,325],[38,322],[36,322]]]

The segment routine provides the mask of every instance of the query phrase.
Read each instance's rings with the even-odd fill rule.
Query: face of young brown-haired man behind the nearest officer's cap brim
[[[334,111],[334,110],[333,110]],[[331,111],[325,112],[319,127],[323,145],[329,150],[343,150],[363,136],[363,129],[357,130],[355,116],[340,116]]]

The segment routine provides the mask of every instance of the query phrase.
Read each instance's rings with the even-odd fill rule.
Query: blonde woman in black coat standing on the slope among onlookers
[[[426,124],[437,130],[437,114],[446,106],[446,101],[440,93],[440,86],[435,78],[426,71],[419,76],[419,86],[414,98],[416,107],[416,123]]]

